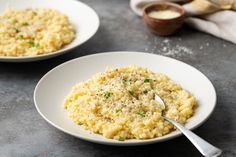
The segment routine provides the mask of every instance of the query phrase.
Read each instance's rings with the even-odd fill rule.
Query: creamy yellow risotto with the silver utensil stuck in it
[[[155,94],[166,108],[154,101]],[[195,98],[166,75],[131,65],[108,67],[75,85],[64,107],[85,129],[123,141],[171,132],[175,128],[162,115],[184,124],[195,104]]]

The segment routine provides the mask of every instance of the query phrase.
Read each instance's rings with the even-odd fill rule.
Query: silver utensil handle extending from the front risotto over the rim
[[[199,150],[199,152],[205,157],[217,157],[222,153],[222,150],[211,145],[189,129],[185,128],[181,124],[177,123],[174,120],[171,120],[167,117],[164,117],[165,120],[171,122],[176,128],[178,128],[191,142],[192,144]]]

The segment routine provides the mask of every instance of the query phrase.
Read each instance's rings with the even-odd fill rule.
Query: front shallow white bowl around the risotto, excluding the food
[[[35,106],[40,115],[56,128],[78,138],[108,145],[143,145],[177,137],[174,131],[163,137],[148,140],[107,139],[91,133],[73,123],[63,109],[63,100],[72,86],[89,79],[93,74],[104,71],[106,66],[122,67],[130,64],[162,72],[189,90],[197,99],[198,106],[186,127],[193,129],[201,125],[216,105],[216,92],[212,83],[200,71],[181,61],[164,56],[140,52],[110,52],[80,57],[63,63],[49,71],[37,84],[34,91]]]

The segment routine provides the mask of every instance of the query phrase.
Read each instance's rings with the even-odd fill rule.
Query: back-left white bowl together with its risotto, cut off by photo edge
[[[96,12],[75,0],[0,0],[0,4],[2,62],[64,54],[89,40],[99,27]]]

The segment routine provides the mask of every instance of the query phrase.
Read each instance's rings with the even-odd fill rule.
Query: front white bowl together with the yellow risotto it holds
[[[165,108],[153,101],[154,94],[164,100]],[[69,135],[135,146],[181,135],[162,115],[188,129],[200,126],[214,111],[216,92],[204,74],[186,63],[120,51],[55,67],[35,87],[34,103],[48,123]]]

